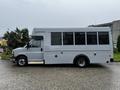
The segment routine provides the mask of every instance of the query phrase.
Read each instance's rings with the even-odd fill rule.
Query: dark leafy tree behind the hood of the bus
[[[29,41],[28,29],[18,29],[15,31],[6,32],[4,39],[7,40],[8,48],[14,49],[17,47],[23,47]]]

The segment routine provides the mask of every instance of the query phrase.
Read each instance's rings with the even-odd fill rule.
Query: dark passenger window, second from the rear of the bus
[[[87,32],[87,44],[88,45],[97,44],[97,32]]]

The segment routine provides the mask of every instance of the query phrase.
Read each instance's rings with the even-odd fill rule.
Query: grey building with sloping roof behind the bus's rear
[[[116,48],[117,38],[120,35],[120,20],[98,25],[89,25],[89,27],[110,27],[112,30],[113,44]]]

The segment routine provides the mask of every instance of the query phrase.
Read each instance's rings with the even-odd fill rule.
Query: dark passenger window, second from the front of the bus
[[[73,45],[73,32],[63,32],[63,45]]]

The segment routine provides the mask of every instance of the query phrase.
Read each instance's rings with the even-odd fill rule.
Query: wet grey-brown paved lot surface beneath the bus
[[[18,67],[0,60],[0,90],[120,90],[120,63]]]

